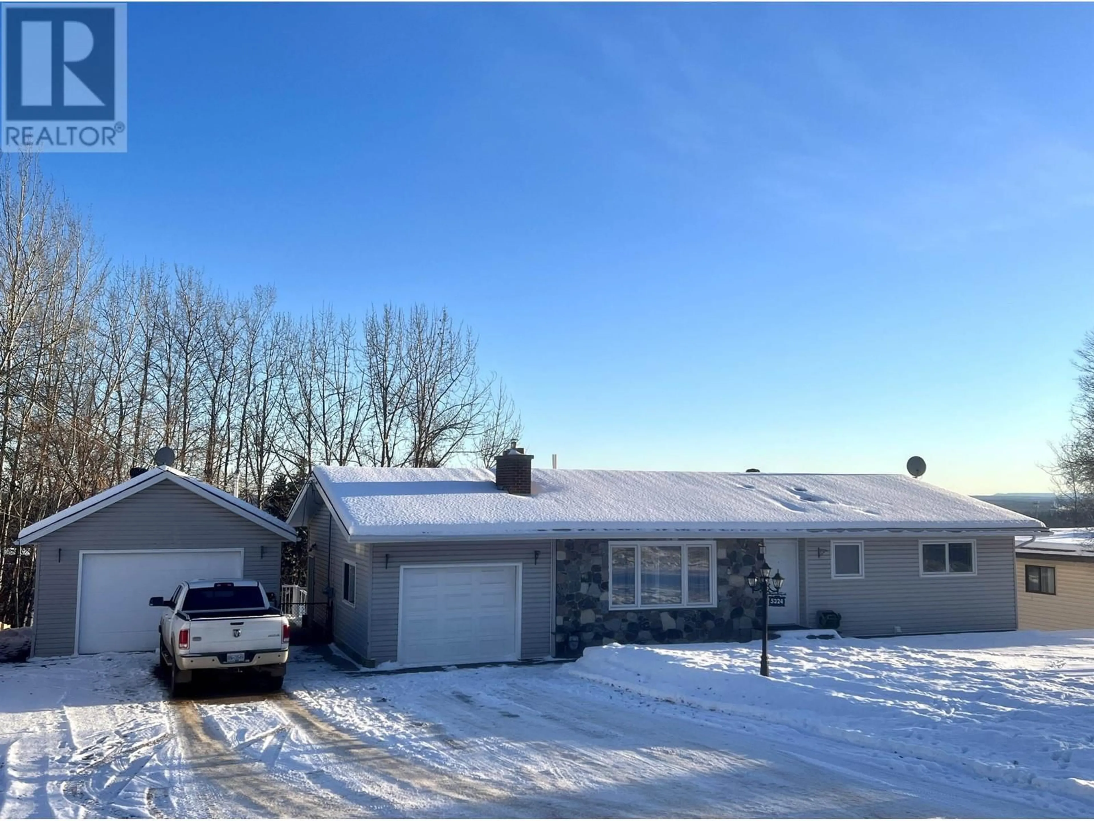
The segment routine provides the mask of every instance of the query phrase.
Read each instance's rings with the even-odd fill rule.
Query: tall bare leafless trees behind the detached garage
[[[519,433],[445,310],[294,315],[269,287],[240,297],[190,267],[112,265],[34,158],[0,160],[0,623],[32,612],[15,534],[162,446],[283,514],[311,464],[489,464]]]

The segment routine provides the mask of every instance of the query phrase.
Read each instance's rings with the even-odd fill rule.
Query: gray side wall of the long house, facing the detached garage
[[[372,586],[372,563],[368,545],[353,544],[342,527],[330,516],[322,501],[307,520],[307,543],[315,546],[315,582],[311,585],[309,601],[326,602],[330,591],[331,635],[335,644],[358,661],[368,658],[369,648],[369,589]],[[342,599],[342,565],[357,565],[354,602]],[[322,608],[315,610],[317,618],[325,617]]]

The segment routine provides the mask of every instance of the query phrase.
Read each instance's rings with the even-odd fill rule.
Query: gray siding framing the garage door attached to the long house
[[[372,641],[369,658],[395,661],[398,654],[399,568],[403,565],[453,565],[461,562],[520,562],[521,658],[551,655],[551,567],[554,543],[437,542],[372,545]],[[535,552],[539,551],[538,562]],[[387,567],[384,567],[387,556]]]

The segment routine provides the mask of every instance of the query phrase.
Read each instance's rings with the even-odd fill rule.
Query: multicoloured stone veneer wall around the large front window
[[[745,576],[756,564],[759,540],[717,541],[718,600],[714,608],[608,610],[607,540],[568,539],[555,543],[555,640],[559,657],[574,655],[570,636],[582,648],[674,641],[748,641],[759,629],[759,597]]]

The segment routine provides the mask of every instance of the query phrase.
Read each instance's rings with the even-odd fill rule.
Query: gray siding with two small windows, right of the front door
[[[846,541],[863,542],[864,578],[831,578],[833,540],[804,540],[807,626],[816,626],[818,610],[839,613],[840,633],[849,636],[1009,631],[1017,626],[1013,537],[951,539],[976,542],[977,573],[936,577],[919,575],[918,537]]]

